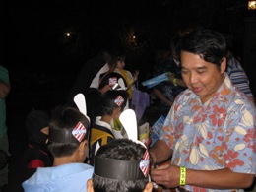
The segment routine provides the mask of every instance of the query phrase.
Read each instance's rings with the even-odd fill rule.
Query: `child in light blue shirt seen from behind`
[[[25,192],[87,191],[93,167],[83,163],[87,155],[89,119],[74,107],[57,107],[49,122],[47,147],[52,167],[39,167],[23,182]]]

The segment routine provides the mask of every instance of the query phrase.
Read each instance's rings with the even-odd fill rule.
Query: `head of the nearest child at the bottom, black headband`
[[[93,181],[88,181],[88,191],[152,191],[147,154],[144,146],[129,139],[116,139],[100,147],[95,157]]]

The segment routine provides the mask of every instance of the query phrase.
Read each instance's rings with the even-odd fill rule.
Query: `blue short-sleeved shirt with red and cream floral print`
[[[173,150],[172,163],[190,169],[256,173],[256,109],[225,75],[215,96],[202,104],[187,89],[171,107],[160,139]],[[186,185],[189,191],[233,191]]]

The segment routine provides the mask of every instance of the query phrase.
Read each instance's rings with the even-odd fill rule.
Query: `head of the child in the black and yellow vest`
[[[118,118],[127,102],[127,92],[123,90],[111,90],[105,93],[102,102],[102,115],[112,115]]]

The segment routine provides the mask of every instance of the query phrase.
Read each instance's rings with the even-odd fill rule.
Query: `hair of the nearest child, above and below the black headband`
[[[129,139],[116,139],[99,148],[96,156],[108,160],[142,160],[146,148]],[[111,170],[109,170],[111,171]],[[142,192],[149,178],[124,181],[93,175],[95,192]]]

